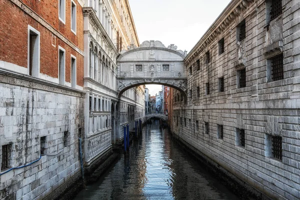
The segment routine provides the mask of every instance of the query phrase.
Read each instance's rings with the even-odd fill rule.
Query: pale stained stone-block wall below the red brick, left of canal
[[[80,169],[78,134],[83,131],[84,94],[51,83],[26,87],[31,82],[1,75],[0,146],[11,144],[7,169],[39,159],[43,136],[44,155],[1,174],[0,199],[43,198]],[[64,131],[68,131],[65,143]]]

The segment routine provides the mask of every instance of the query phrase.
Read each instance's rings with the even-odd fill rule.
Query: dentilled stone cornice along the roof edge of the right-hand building
[[[217,19],[210,25],[204,35],[196,45],[190,50],[184,59],[186,65],[191,64],[194,59],[209,46],[217,36],[223,32],[240,15],[242,10],[246,10],[256,0],[231,0]]]

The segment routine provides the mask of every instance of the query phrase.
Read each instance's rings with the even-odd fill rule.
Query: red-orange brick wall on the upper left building
[[[70,30],[70,1],[66,0],[66,24],[58,19],[58,8],[48,1],[24,0],[32,9],[44,15],[50,24],[57,25],[60,31],[83,51],[83,15],[77,1],[76,35]],[[56,1],[55,1],[56,2]],[[58,2],[58,1],[57,1]],[[43,5],[43,6],[42,6]],[[52,10],[53,12],[49,11]],[[55,11],[56,10],[56,11]],[[76,56],[77,84],[83,86],[83,56],[77,53],[62,40],[56,37],[56,45],[52,45],[52,32],[27,15],[9,0],[0,1],[0,60],[27,67],[27,34],[28,24],[40,32],[40,73],[58,77],[58,45],[65,49],[65,81],[70,82],[70,53]],[[59,25],[58,25],[59,24]],[[56,28],[56,27],[55,27]]]

